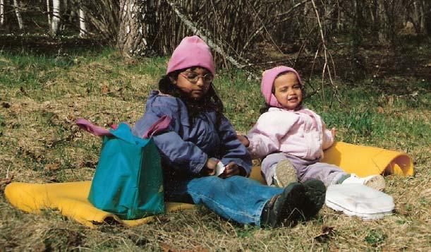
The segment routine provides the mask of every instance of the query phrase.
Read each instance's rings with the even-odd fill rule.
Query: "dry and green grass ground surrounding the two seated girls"
[[[382,220],[363,222],[325,207],[316,220],[296,227],[260,229],[196,208],[133,228],[87,229],[56,210],[32,215],[8,204],[6,175],[35,183],[91,179],[101,141],[73,121],[83,117],[101,126],[133,124],[142,116],[148,92],[157,88],[166,61],[125,61],[109,48],[58,58],[0,52],[0,251],[429,250],[431,83],[397,76],[337,83],[340,101],[332,100],[329,88],[305,100],[328,128],[337,129],[338,140],[413,157],[415,176],[387,176],[386,192],[394,197],[396,211]],[[312,79],[305,85],[310,90],[320,84]],[[248,80],[242,71],[219,71],[214,86],[226,116],[238,132],[246,133],[263,104],[259,81]],[[327,227],[333,231],[322,234]]]

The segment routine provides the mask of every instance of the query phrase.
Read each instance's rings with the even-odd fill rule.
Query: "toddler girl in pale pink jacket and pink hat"
[[[325,128],[320,116],[306,109],[299,74],[286,66],[263,73],[260,90],[269,107],[246,137],[239,140],[250,153],[262,160],[262,173],[268,185],[286,186],[291,181],[319,179],[332,184],[365,184],[383,190],[380,175],[358,178],[339,167],[319,162],[323,150],[334,143],[335,129]]]

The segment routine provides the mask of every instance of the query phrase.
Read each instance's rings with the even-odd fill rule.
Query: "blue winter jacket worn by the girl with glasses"
[[[133,127],[133,134],[142,136],[154,121],[164,115],[171,117],[171,124],[166,131],[153,137],[164,167],[195,176],[205,166],[208,157],[216,157],[223,164],[235,162],[247,176],[250,174],[250,154],[236,138],[236,132],[226,117],[221,116],[217,127],[216,113],[204,112],[190,125],[186,104],[157,90],[150,92],[145,113]]]

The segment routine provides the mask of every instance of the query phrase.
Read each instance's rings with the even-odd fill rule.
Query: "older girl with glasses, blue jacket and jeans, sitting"
[[[245,178],[250,154],[223,115],[212,85],[214,71],[207,44],[197,36],[184,38],[133,127],[135,136],[142,136],[157,120],[171,118],[169,127],[153,136],[162,157],[165,199],[202,204],[228,220],[258,226],[316,215],[324,203],[322,182],[275,188]],[[226,164],[220,176],[214,176],[217,160],[212,157]]]

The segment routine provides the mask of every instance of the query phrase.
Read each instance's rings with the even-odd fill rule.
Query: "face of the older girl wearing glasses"
[[[178,78],[176,80],[171,78],[171,81],[190,98],[200,100],[210,89],[213,78],[207,69],[195,67],[179,73]]]

